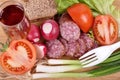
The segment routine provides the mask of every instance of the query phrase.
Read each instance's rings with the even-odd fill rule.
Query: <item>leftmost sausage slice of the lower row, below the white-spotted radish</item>
[[[47,56],[49,58],[61,58],[65,54],[64,45],[57,39],[47,42],[46,45],[48,48]]]

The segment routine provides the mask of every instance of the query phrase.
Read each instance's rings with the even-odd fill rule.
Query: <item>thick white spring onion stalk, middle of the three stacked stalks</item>
[[[36,67],[36,72],[56,73],[73,71],[77,69],[82,69],[82,66],[81,65],[47,66],[38,64]]]

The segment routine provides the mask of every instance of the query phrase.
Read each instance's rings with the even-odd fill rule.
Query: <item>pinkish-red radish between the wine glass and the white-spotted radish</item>
[[[28,33],[27,39],[33,43],[37,43],[40,40],[40,30],[35,24],[31,24],[30,31]]]

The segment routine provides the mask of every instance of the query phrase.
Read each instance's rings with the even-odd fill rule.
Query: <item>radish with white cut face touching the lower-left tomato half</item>
[[[37,50],[37,58],[41,59],[47,54],[47,47],[45,44],[34,44]]]

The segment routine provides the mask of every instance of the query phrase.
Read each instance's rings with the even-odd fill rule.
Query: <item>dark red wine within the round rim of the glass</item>
[[[0,22],[5,25],[16,25],[24,17],[24,9],[19,5],[9,5],[5,7],[0,13]]]

